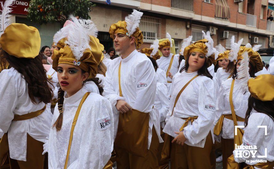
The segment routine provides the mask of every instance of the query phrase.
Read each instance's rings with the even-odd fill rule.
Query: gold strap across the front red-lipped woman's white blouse
[[[90,94],[90,92],[86,92],[86,94],[83,96],[82,100],[80,101],[80,104],[76,110],[72,125],[71,125],[71,135],[70,135],[70,140],[69,140],[69,145],[67,147],[67,152],[66,152],[66,162],[65,162],[65,166],[64,169],[67,168],[67,163],[68,163],[68,159],[69,159],[69,155],[70,155],[70,151],[71,151],[71,142],[72,142],[72,137],[73,137],[73,131],[80,113],[80,110],[82,108],[83,103],[85,102],[85,100],[87,99],[87,96]]]

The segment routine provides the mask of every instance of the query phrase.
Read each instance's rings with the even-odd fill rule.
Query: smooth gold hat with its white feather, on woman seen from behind
[[[38,29],[25,24],[10,21],[10,6],[15,0],[1,2],[2,14],[0,15],[0,44],[9,55],[18,58],[35,58],[38,56],[41,38]]]

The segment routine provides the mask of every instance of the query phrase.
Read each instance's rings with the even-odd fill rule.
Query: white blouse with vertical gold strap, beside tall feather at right
[[[226,81],[222,82],[222,85],[219,90],[219,95],[217,97],[217,109],[216,109],[216,117],[214,120],[214,126],[217,124],[222,114],[231,114],[231,108],[229,103],[229,93],[230,87],[232,83],[232,78],[229,78]],[[232,93],[232,101],[234,105],[234,110],[237,116],[245,118],[245,114],[248,108],[248,97],[250,92],[243,92],[241,85],[238,79],[235,79],[233,93]],[[237,122],[238,126],[243,126],[244,122]],[[223,130],[221,132],[221,136],[224,139],[234,139],[234,123],[233,120],[229,120],[224,118]]]

